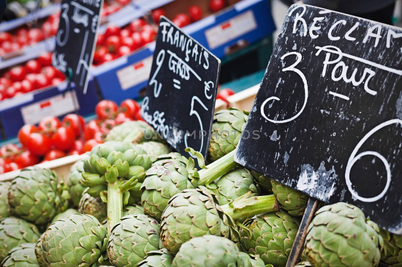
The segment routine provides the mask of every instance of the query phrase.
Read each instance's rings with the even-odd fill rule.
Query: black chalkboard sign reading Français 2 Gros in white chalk
[[[191,147],[207,156],[220,66],[199,42],[161,17],[141,115],[183,155]]]

